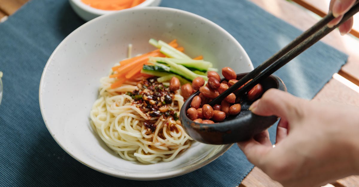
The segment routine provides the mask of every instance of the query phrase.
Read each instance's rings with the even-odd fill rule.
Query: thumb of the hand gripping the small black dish
[[[249,108],[254,114],[261,116],[275,115],[288,121],[302,116],[303,104],[308,101],[295,97],[288,92],[278,89],[267,90],[261,99],[255,101]]]

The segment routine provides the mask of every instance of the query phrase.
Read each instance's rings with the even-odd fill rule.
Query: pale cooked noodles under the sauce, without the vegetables
[[[183,130],[179,120],[173,117],[149,116],[134,105],[127,92],[138,90],[137,82],[111,89],[114,78],[101,78],[99,98],[94,102],[90,117],[92,126],[109,148],[123,159],[150,164],[173,160],[178,153],[191,145],[191,138]],[[176,91],[173,102],[167,106],[177,112],[183,105],[183,97]],[[144,123],[155,126],[154,131]]]

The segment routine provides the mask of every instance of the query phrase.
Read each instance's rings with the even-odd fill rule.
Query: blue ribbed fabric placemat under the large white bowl
[[[258,66],[301,32],[248,0],[163,0],[232,34]],[[67,0],[32,0],[0,24],[0,186],[236,186],[251,171],[234,145],[192,173],[160,181],[131,181],[94,171],[65,153],[48,133],[38,102],[42,69],[52,51],[84,23]],[[210,39],[210,38],[209,38]],[[311,99],[339,71],[347,56],[317,43],[275,74],[288,91]],[[272,138],[275,126],[270,129]]]

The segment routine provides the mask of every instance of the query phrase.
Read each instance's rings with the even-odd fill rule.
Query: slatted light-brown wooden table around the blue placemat
[[[13,14],[28,0],[0,0],[0,20]],[[251,0],[269,13],[292,24],[301,30],[306,30],[318,21],[318,14],[323,16],[328,10],[330,0]],[[302,6],[300,6],[302,5]],[[313,12],[313,13],[312,13]],[[323,42],[349,55],[348,62],[314,97],[314,100],[323,102],[341,102],[359,106],[359,16],[354,23],[354,36],[341,36],[334,31],[322,39]],[[255,167],[239,185],[240,187],[277,187],[278,182],[271,180],[259,168]],[[327,186],[351,187],[359,186],[359,176],[350,176],[334,181]]]

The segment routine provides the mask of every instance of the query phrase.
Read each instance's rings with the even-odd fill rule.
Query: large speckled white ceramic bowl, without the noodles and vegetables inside
[[[133,53],[154,50],[150,38],[177,39],[185,52],[200,54],[217,68],[237,73],[253,69],[242,46],[228,32],[201,16],[186,11],[147,7],[119,11],[85,23],[55,49],[44,68],[39,101],[46,127],[56,142],[79,162],[106,174],[152,180],[179,176],[210,163],[231,145],[195,142],[171,162],[144,165],[123,160],[94,133],[90,109],[98,97],[99,78],[116,62]]]

